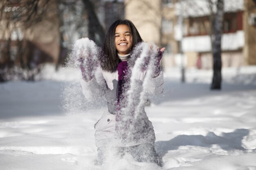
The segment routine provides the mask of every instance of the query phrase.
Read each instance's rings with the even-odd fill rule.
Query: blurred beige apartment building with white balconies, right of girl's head
[[[135,23],[144,41],[166,47],[165,66],[211,68],[211,11],[207,1],[202,2],[127,0],[125,18]],[[256,64],[256,4],[253,0],[224,0],[224,4],[222,66]]]

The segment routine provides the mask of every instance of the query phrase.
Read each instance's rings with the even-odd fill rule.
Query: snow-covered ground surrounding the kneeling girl
[[[81,100],[75,70],[46,66],[42,81],[2,83],[0,170],[256,170],[256,66],[222,75],[222,90],[210,91],[211,71],[189,69],[186,83],[179,68],[165,71],[164,94],[146,108],[162,168],[94,165],[93,125],[104,108]]]

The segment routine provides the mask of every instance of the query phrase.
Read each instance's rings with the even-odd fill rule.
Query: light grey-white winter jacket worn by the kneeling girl
[[[146,71],[137,73],[137,79],[143,82]],[[121,139],[115,139],[115,109],[116,109],[116,94],[117,94],[117,80],[118,72],[110,73],[103,71],[101,67],[97,68],[94,78],[90,82],[85,82],[81,76],[81,86],[83,94],[86,99],[97,99],[105,95],[108,108],[103,112],[103,115],[99,121],[94,125],[95,132],[95,144],[97,148],[106,145],[112,145],[117,147],[135,146],[144,143],[155,143],[155,132],[151,121],[148,120],[146,112],[140,113],[141,124],[146,128],[146,132],[141,132],[141,138],[126,142]],[[163,92],[164,77],[162,71],[155,78],[150,78],[148,83],[147,93],[151,95],[161,94]]]

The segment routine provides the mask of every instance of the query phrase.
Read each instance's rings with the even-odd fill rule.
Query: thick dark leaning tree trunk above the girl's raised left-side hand
[[[90,0],[83,0],[83,3],[85,5],[85,10],[88,13],[88,38],[93,40],[97,45],[101,46],[105,38],[103,27],[97,18],[92,2]],[[98,35],[97,37],[96,34]]]

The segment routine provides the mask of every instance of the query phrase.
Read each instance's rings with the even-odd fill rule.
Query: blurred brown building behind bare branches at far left
[[[34,64],[58,60],[58,6],[54,0],[43,9],[44,2],[42,0],[37,4],[37,15],[32,15],[33,9],[27,6],[25,0],[16,3],[0,2],[0,64],[8,60],[14,63],[20,60],[29,62],[31,58],[33,61],[30,62]],[[31,16],[27,13],[31,13]]]

